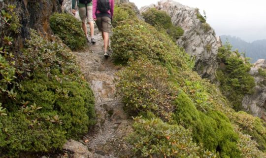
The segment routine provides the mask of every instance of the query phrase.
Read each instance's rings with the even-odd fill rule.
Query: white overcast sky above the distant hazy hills
[[[159,0],[130,0],[138,8]],[[266,0],[175,0],[206,11],[207,23],[216,35],[246,40],[266,39]]]

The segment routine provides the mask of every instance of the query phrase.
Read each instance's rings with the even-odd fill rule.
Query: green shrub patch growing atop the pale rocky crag
[[[145,22],[151,24],[159,31],[166,31],[173,40],[179,39],[184,30],[180,26],[174,26],[171,22],[171,17],[163,10],[157,10],[156,8],[149,8],[142,13]]]

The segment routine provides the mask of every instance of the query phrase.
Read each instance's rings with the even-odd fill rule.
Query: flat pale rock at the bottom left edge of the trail
[[[86,146],[72,139],[66,142],[63,150],[73,153],[73,158],[94,158],[93,154],[88,151],[88,148]]]

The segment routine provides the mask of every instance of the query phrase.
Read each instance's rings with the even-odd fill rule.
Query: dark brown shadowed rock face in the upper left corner
[[[55,40],[50,28],[50,16],[54,12],[61,12],[59,0],[5,0],[5,4],[14,4],[14,10],[22,25],[20,33],[13,36],[18,41],[14,45],[17,50],[24,46],[25,40],[30,36],[30,29],[36,30],[40,36],[49,40]],[[0,3],[0,8],[2,3]],[[0,32],[4,29],[0,25]]]

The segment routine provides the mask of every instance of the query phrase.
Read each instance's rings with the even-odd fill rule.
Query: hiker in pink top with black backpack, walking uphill
[[[114,0],[93,0],[93,19],[96,21],[104,43],[104,56],[107,58],[109,44],[109,33],[112,28],[114,14]]]

